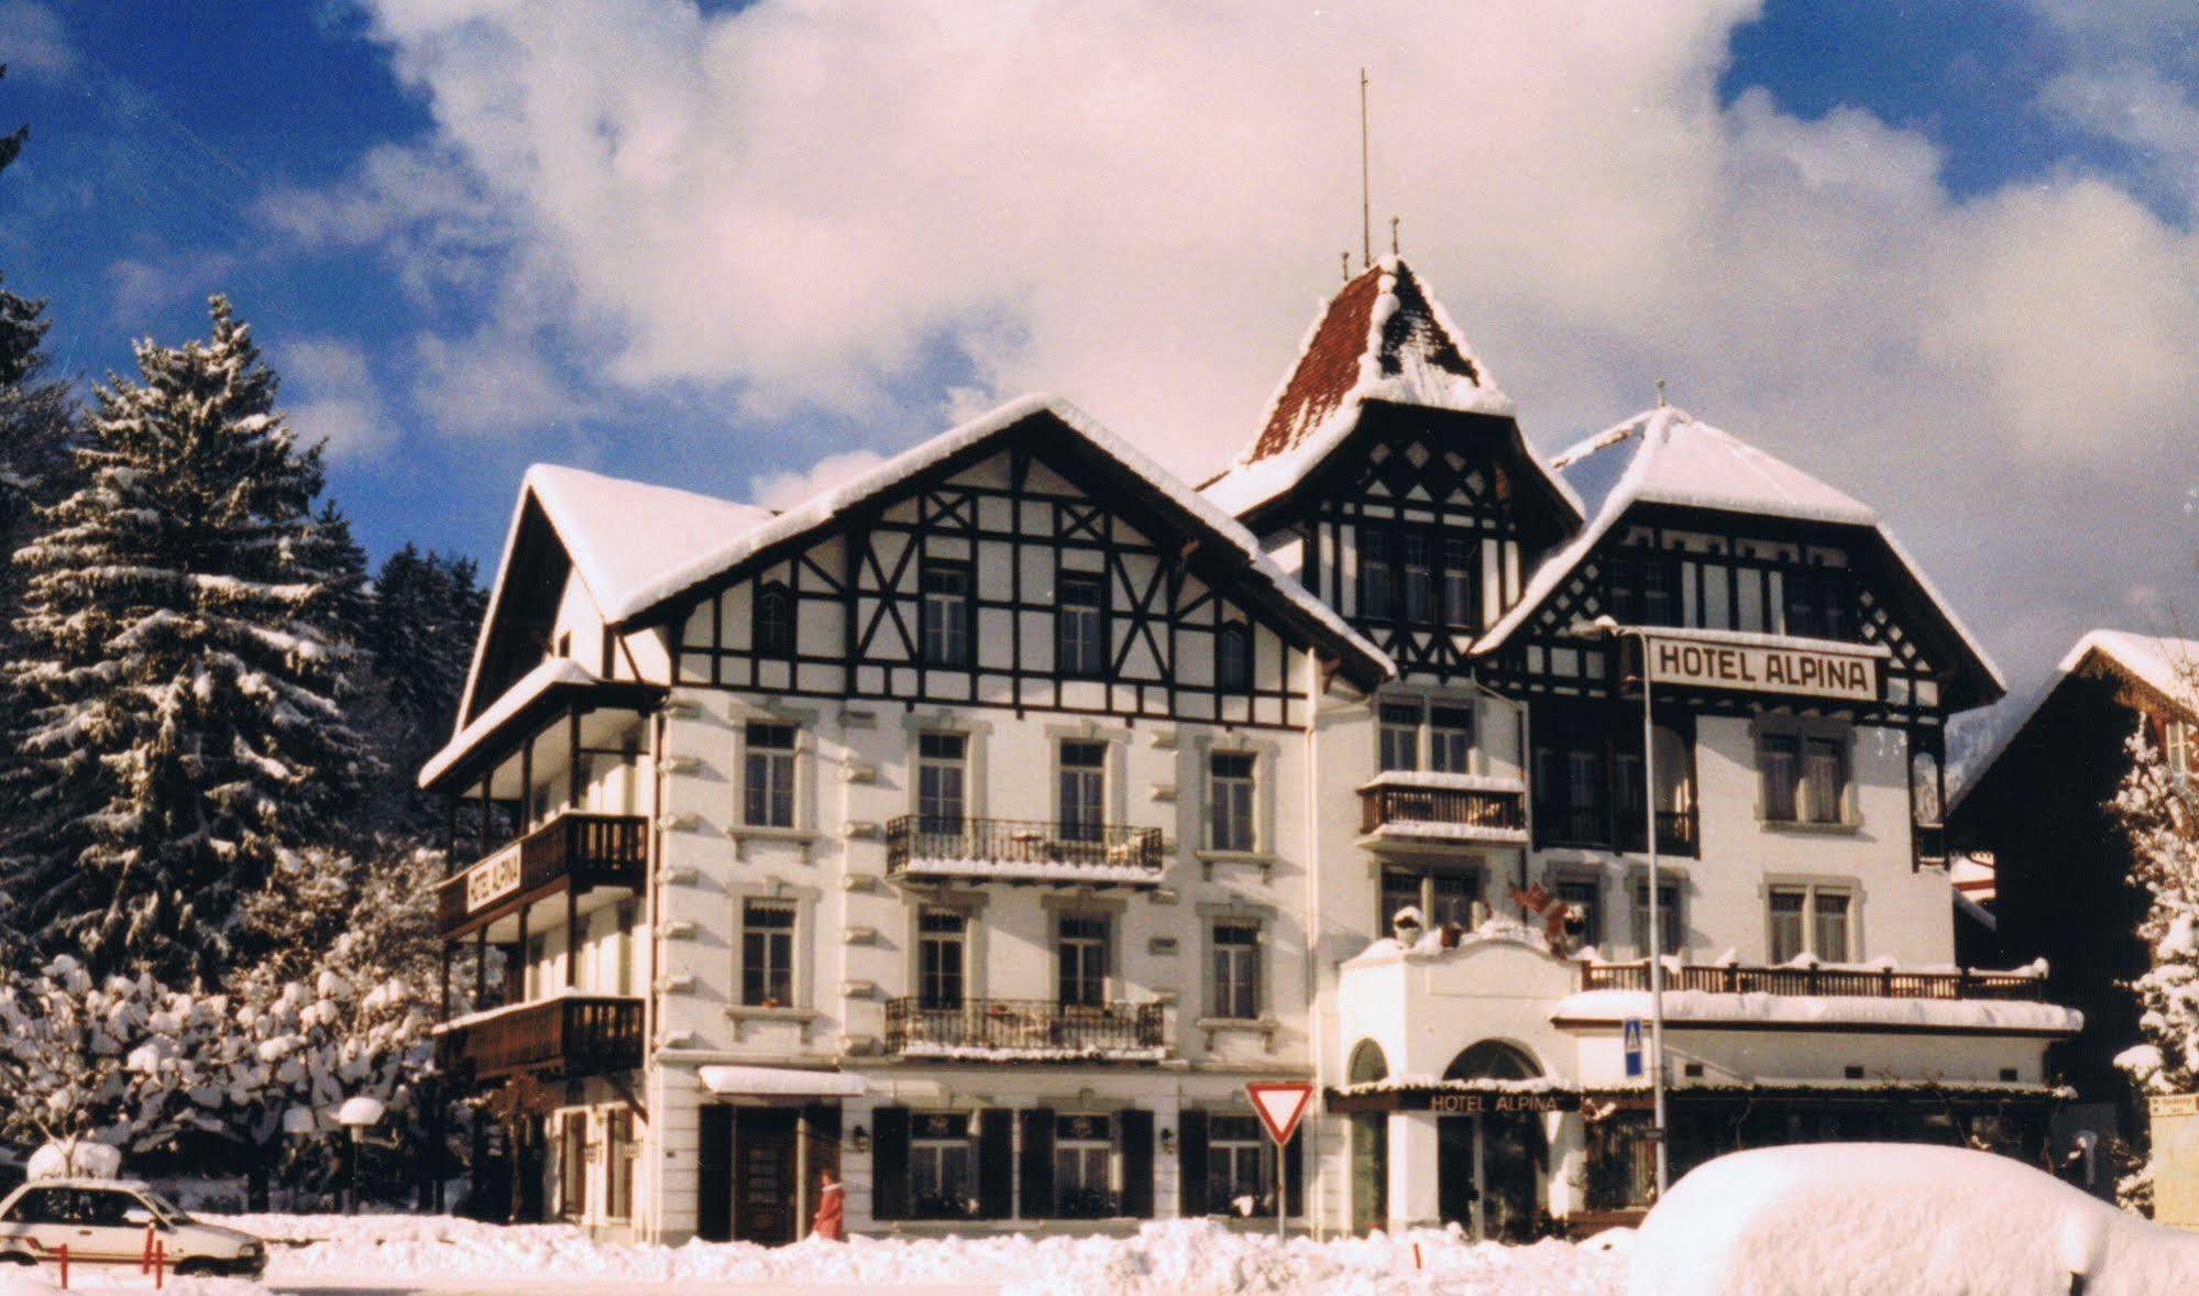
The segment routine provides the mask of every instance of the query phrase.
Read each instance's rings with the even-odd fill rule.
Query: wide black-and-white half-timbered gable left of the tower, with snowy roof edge
[[[677,684],[783,695],[1289,726],[1304,647],[1381,678],[1249,535],[1126,447],[1042,405],[996,422],[633,623],[677,627]]]

